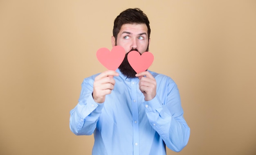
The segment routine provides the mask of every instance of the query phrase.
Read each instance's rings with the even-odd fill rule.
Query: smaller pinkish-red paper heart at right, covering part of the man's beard
[[[144,72],[149,68],[153,63],[154,56],[150,52],[144,52],[140,55],[139,52],[133,50],[128,53],[127,59],[135,72],[139,73]]]

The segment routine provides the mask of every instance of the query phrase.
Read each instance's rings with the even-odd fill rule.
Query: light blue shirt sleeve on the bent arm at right
[[[153,129],[168,148],[179,152],[189,141],[190,129],[183,117],[177,85],[171,78],[166,81],[167,83],[157,83],[157,95],[152,100],[145,101],[144,106]]]

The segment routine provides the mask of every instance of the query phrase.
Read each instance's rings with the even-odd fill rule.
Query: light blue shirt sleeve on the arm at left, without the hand
[[[76,135],[91,135],[95,128],[104,103],[96,103],[92,97],[93,80],[82,83],[79,103],[70,111],[70,130]]]

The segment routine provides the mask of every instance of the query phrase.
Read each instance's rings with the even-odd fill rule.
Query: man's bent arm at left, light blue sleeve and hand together
[[[79,103],[70,111],[70,130],[76,135],[91,135],[95,128],[105,96],[114,88],[118,76],[115,71],[105,71],[91,79],[85,79],[82,83]]]

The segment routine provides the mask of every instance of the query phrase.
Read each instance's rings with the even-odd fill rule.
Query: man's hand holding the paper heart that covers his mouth
[[[152,100],[157,94],[157,82],[155,78],[148,71],[140,72],[135,76],[139,77],[139,90],[144,94],[145,100]]]

